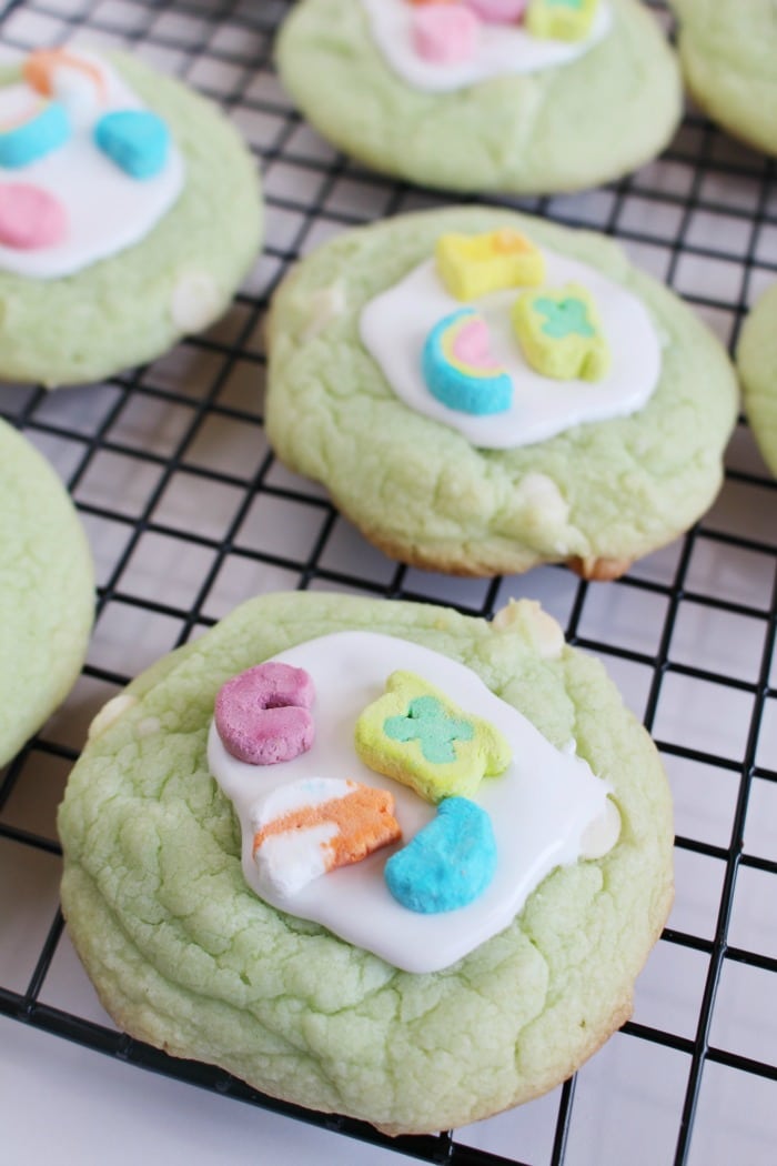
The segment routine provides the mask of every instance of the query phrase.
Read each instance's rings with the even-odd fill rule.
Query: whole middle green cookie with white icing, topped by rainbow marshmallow
[[[544,254],[551,292],[532,295],[572,286],[592,297],[595,379],[585,361],[575,380],[531,367],[511,318],[525,288],[466,308],[451,295],[436,268],[439,238],[503,230]],[[467,410],[464,393],[440,399],[424,379],[428,338],[460,310],[488,329],[488,360],[464,368],[468,387],[488,387],[497,370],[510,381],[497,412],[476,398]],[[589,578],[621,574],[711,505],[736,420],[730,361],[676,295],[602,236],[504,210],[430,211],[344,233],[280,287],[268,349],[266,423],[280,458],[323,482],[387,554],[455,574],[558,561]],[[450,361],[454,373],[461,365]]]

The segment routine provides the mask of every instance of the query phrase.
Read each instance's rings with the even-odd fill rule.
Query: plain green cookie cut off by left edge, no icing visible
[[[0,421],[0,765],[70,691],[93,612],[78,515],[49,463]]]

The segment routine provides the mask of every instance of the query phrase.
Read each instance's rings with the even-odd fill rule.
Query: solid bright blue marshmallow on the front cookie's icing
[[[432,819],[384,868],[386,884],[403,907],[425,915],[466,907],[496,872],[490,817],[468,798],[446,798]]]

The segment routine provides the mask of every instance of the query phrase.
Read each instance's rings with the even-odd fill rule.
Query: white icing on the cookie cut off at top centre
[[[601,3],[591,33],[581,41],[532,36],[521,26],[483,24],[479,47],[467,61],[436,64],[418,56],[412,42],[414,5],[408,0],[361,0],[375,44],[386,63],[408,85],[450,92],[509,73],[553,69],[588,52],[610,29],[613,15]]]

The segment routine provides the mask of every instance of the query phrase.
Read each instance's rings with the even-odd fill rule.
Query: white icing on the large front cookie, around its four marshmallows
[[[438,652],[391,635],[340,632],[274,659],[304,668],[313,679],[312,747],[292,761],[260,770],[227,753],[214,725],[207,745],[211,772],[240,819],[243,874],[273,906],[323,923],[396,968],[414,972],[447,968],[502,930],[550,871],[580,858],[591,827],[607,815],[608,786],[574,756],[573,745],[556,749],[472,669]],[[276,786],[325,777],[390,788],[405,843],[435,816],[433,806],[408,786],[367,768],[354,749],[359,714],[382,695],[386,679],[396,669],[410,669],[442,687],[462,710],[486,717],[510,743],[509,768],[483,781],[475,799],[490,814],[496,836],[499,865],[493,883],[459,911],[416,914],[393,899],[386,886],[383,866],[397,849],[388,847],[313,879],[295,894],[274,891],[261,881],[252,848],[257,803]]]

